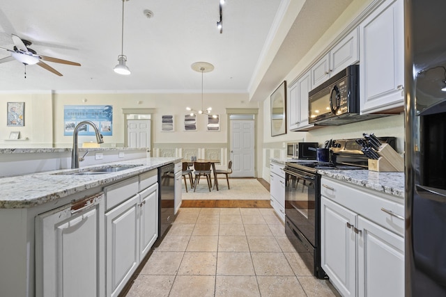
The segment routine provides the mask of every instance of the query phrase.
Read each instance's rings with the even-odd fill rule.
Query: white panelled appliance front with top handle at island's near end
[[[36,296],[104,296],[103,198],[36,216]]]

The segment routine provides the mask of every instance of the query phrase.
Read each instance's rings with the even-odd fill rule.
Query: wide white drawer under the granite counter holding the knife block
[[[321,179],[321,195],[369,218],[400,236],[404,234],[404,204],[398,198],[344,182]]]

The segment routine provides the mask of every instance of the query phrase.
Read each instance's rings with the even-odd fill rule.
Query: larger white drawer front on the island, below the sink
[[[121,204],[128,198],[137,195],[139,190],[139,177],[125,179],[122,182],[112,184],[104,188],[105,193],[105,211]]]

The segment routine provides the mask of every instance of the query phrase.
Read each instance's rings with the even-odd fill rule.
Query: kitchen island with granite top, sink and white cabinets
[[[117,283],[115,280],[111,280],[110,284],[106,283],[105,275],[110,274],[107,273],[109,266],[116,264],[116,267],[122,268],[123,266],[119,265],[123,264],[123,260],[116,257],[106,258],[105,254],[112,255],[109,252],[115,249],[114,252],[119,255],[118,249],[122,246],[116,246],[121,242],[116,238],[112,242],[115,246],[110,249],[110,245],[107,246],[107,244],[112,238],[110,236],[115,236],[115,234],[107,236],[107,238],[106,234],[115,230],[126,236],[127,234],[135,235],[130,237],[134,239],[135,244],[124,241],[125,247],[134,246],[137,252],[142,251],[143,247],[139,243],[143,243],[144,236],[140,232],[144,228],[151,228],[151,231],[155,232],[155,235],[157,234],[157,230],[154,230],[152,226],[155,222],[154,218],[157,218],[157,207],[159,207],[157,201],[157,168],[168,163],[178,164],[180,160],[179,158],[141,158],[86,166],[79,169],[54,170],[0,179],[1,295],[60,296],[60,291],[56,290],[52,291],[53,294],[47,294],[47,291],[45,291],[47,288],[43,285],[43,279],[48,275],[48,273],[43,273],[46,269],[45,265],[51,263],[48,259],[43,259],[43,255],[48,254],[47,247],[56,249],[57,246],[57,241],[52,244],[52,241],[49,241],[48,244],[48,237],[45,232],[49,235],[56,234],[57,239],[59,234],[71,236],[82,228],[86,230],[85,234],[89,235],[89,239],[72,242],[73,250],[71,252],[66,250],[66,258],[63,257],[63,261],[70,259],[71,264],[79,263],[79,265],[82,265],[81,267],[84,268],[78,269],[79,275],[91,271],[89,266],[83,265],[93,265],[93,275],[97,277],[91,282],[91,286],[95,286],[96,294],[94,295],[114,296],[118,294],[123,285],[122,282]],[[93,175],[83,175],[82,173],[118,167],[125,167],[125,170]],[[81,207],[82,209],[77,209],[77,203],[83,201],[85,203]],[[90,205],[93,204],[98,206],[90,208]],[[147,207],[148,205],[150,207]],[[85,213],[83,212],[84,207]],[[145,211],[150,215],[149,220],[141,220]],[[75,219],[59,225],[58,223],[54,224],[52,228],[45,227],[47,226],[45,225],[47,218],[57,219],[54,214],[57,214],[57,217],[59,217],[59,214],[60,216],[74,215]],[[79,224],[81,218],[86,223]],[[92,222],[93,225],[89,225]],[[117,224],[121,222],[126,223],[127,226],[134,226],[136,229],[132,232],[123,232],[123,230],[116,229],[118,228]],[[78,237],[75,238],[78,239]],[[150,240],[150,243],[153,244],[153,239]],[[59,242],[59,248],[66,248],[62,243],[66,242]],[[78,256],[79,253],[83,255],[84,249],[89,257],[72,256],[72,253]],[[91,250],[95,251],[93,256]],[[60,252],[60,250],[57,251]],[[45,254],[45,252],[47,253]],[[54,255],[55,253],[49,254]],[[136,254],[135,259],[130,261],[131,269],[114,271],[114,273],[123,273],[125,278],[128,278],[131,271],[134,271],[135,266],[141,261],[140,253]],[[93,259],[94,261],[86,261],[86,259]],[[61,259],[56,260],[61,261]],[[124,264],[127,265],[128,262]],[[49,276],[54,276],[54,279],[56,279],[60,277],[59,273],[60,271],[58,273],[53,271]],[[56,286],[56,284],[52,285]],[[84,287],[88,287],[87,284]]]

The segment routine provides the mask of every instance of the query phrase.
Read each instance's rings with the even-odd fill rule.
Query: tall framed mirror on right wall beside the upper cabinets
[[[271,94],[271,136],[286,134],[286,81]]]

